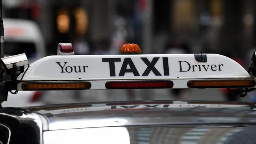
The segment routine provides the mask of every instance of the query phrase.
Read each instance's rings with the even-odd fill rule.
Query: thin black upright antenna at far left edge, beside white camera
[[[2,0],[0,0],[0,58],[4,57],[4,23],[2,17]],[[3,78],[4,67],[0,63],[0,81],[4,80]]]

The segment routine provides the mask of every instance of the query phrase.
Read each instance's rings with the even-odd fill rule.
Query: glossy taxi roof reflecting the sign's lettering
[[[256,124],[255,103],[130,101],[23,107],[42,115],[44,130],[108,126]],[[23,115],[24,116],[24,115]]]

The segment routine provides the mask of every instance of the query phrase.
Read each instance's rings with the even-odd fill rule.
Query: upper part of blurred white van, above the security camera
[[[29,62],[45,57],[45,43],[32,20],[4,18],[5,55],[26,53]]]

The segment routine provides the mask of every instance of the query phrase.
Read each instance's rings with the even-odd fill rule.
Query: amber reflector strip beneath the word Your
[[[90,89],[90,82],[80,83],[23,83],[23,90],[76,90],[76,89]]]

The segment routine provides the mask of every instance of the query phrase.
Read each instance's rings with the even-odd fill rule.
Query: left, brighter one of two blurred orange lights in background
[[[57,16],[57,29],[60,33],[69,31],[70,18],[67,9],[60,9]]]

